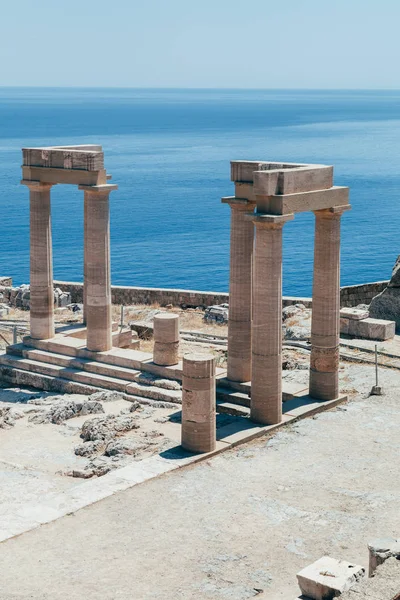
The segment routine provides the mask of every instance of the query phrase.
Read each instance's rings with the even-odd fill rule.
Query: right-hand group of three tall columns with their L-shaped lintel
[[[310,395],[339,396],[340,218],[349,189],[333,167],[233,161],[228,379],[251,380],[251,418],[282,420],[282,229],[315,214]],[[254,235],[255,232],[255,235]]]

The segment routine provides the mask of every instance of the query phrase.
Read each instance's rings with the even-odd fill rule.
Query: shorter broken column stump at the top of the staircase
[[[178,363],[179,315],[160,313],[154,317],[153,362],[169,367]]]

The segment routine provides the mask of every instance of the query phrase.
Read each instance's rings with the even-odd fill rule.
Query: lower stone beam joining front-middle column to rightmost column
[[[298,194],[257,196],[257,206],[262,212],[274,215],[326,210],[339,212],[347,210],[349,188],[334,186],[327,190],[313,190]]]

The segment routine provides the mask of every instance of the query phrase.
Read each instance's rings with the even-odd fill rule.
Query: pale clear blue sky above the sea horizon
[[[2,0],[0,85],[400,88],[399,0]]]

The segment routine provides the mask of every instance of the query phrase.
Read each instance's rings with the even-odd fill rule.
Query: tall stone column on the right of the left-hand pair
[[[112,347],[110,279],[110,192],[116,185],[80,185],[84,191],[85,296],[87,348],[104,352]]]

